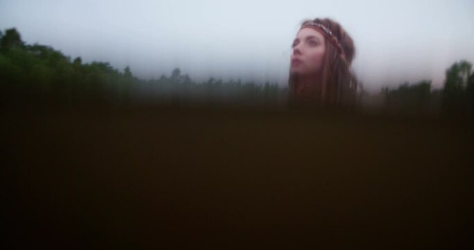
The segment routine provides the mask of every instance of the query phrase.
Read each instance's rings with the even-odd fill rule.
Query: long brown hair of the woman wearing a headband
[[[353,39],[332,19],[316,18],[305,20],[306,22],[317,22],[329,28],[336,36],[344,51],[344,56],[337,47],[325,36],[325,55],[321,74],[314,79],[311,85],[303,86],[297,74],[289,73],[289,105],[291,107],[301,104],[311,106],[352,106],[357,100],[357,78],[350,67],[354,56],[355,47]],[[301,91],[297,91],[300,90]],[[302,94],[303,93],[303,94]]]

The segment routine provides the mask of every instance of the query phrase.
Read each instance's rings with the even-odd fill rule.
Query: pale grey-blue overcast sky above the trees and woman
[[[353,68],[378,92],[403,81],[441,88],[452,63],[474,63],[474,0],[0,0],[15,27],[67,56],[130,65],[142,78],[181,72],[203,81],[287,85],[291,42],[303,19],[330,17],[353,37]]]

